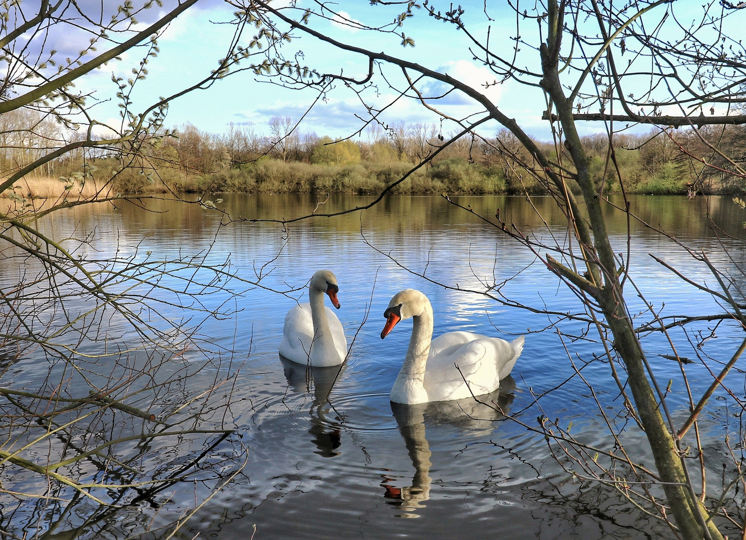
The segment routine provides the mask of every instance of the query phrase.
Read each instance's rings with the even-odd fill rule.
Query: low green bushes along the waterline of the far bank
[[[623,177],[633,177],[627,193],[686,194],[686,179],[682,179],[673,164],[665,165],[656,176],[642,174],[636,168],[622,165]],[[348,165],[307,162],[284,162],[263,157],[252,164],[225,168],[214,174],[195,174],[175,168],[159,168],[150,174],[142,171],[122,171],[117,178],[119,191],[143,193],[167,191],[181,193],[348,193],[374,194],[401,179],[413,167],[410,162],[386,163],[361,161]],[[603,177],[603,167],[592,162],[597,182]],[[627,176],[629,175],[629,176]],[[153,180],[151,182],[151,180]],[[568,188],[577,193],[577,186],[566,180]],[[632,182],[630,182],[632,184]],[[605,193],[621,191],[615,171],[607,171]],[[508,178],[501,167],[485,167],[466,159],[442,159],[424,165],[396,185],[393,193],[405,194],[545,194],[545,189],[531,174],[514,168]]]

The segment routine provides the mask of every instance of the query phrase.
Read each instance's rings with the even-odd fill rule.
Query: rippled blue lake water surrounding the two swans
[[[369,200],[336,196],[318,212]],[[554,235],[560,243],[565,241],[564,217],[548,198],[533,198],[531,205],[523,197],[463,197],[459,202],[487,217],[499,209],[501,219],[515,223],[526,235],[545,240]],[[490,396],[504,412],[532,427],[540,412],[551,419],[560,417],[564,425],[573,422],[573,433],[584,442],[612,448],[592,393],[574,376],[570,362],[571,358],[583,366],[583,376],[592,381],[604,405],[619,407],[618,387],[608,366],[584,366],[580,360],[602,356],[603,348],[592,331],[587,340],[565,337],[563,344],[556,331],[542,331],[557,315],[516,307],[521,303],[538,311],[549,306],[557,314],[580,312],[568,288],[515,240],[440,197],[389,197],[366,212],[284,226],[241,218],[289,220],[312,211],[316,198],[224,196],[216,206],[232,220],[196,205],[147,204],[147,212],[124,204],[120,209],[101,206],[57,213],[43,226],[57,237],[95,231],[99,252],[119,250],[136,258],[145,258],[145,252],[153,258],[200,253],[211,264],[231,259],[231,271],[239,279],[225,282],[225,288],[238,295],[207,297],[204,305],[235,315],[207,317],[199,334],[216,348],[231,351],[236,363],[245,360],[232,388],[230,423],[236,431],[221,444],[239,448],[246,463],[225,489],[198,509],[181,537],[199,533],[216,539],[445,539],[463,537],[465,531],[474,538],[671,536],[665,527],[620,504],[612,490],[570,479],[542,436],[495,410],[471,400],[392,408],[389,391],[407,349],[410,323],[401,323],[380,340],[382,314],[398,290],[417,288],[433,303],[435,335],[468,330],[510,340],[526,334],[513,378]],[[709,215],[724,232],[742,235],[744,212],[726,197],[636,197],[633,211],[689,246],[708,250],[718,265],[735,269],[743,260],[739,242],[713,231],[706,220]],[[611,209],[609,216],[612,241],[625,252],[626,217]],[[712,282],[706,266],[641,223],[633,221],[630,234],[628,268],[648,301],[656,308],[665,303],[664,314],[712,311],[712,297],[682,284],[649,254],[665,258],[695,282]],[[730,248],[734,261],[722,255],[718,243]],[[304,286],[320,268],[336,274],[342,304],[337,314],[348,343],[356,333],[357,337],[339,374],[334,368],[316,370],[310,378],[304,367],[282,363],[277,349],[286,311],[295,299],[307,302]],[[16,274],[4,263],[0,282]],[[485,285],[495,284],[490,290],[494,298],[480,294]],[[642,303],[633,294],[628,296],[632,311],[641,310]],[[164,306],[161,313],[178,317],[180,310]],[[702,323],[700,329],[707,326]],[[580,334],[586,325],[568,323],[562,328]],[[672,334],[677,343],[686,343],[680,332]],[[717,344],[705,350],[714,360],[727,360],[742,334],[732,323],[722,323],[717,334]],[[651,335],[643,343],[659,380],[664,385],[669,378],[673,381],[669,405],[674,416],[686,416],[679,368],[658,356],[670,354],[665,341]],[[685,349],[680,355],[694,355]],[[189,354],[184,356],[187,361]],[[34,373],[35,361],[19,363],[13,376],[29,381],[41,377]],[[717,364],[712,369],[717,370]],[[695,390],[711,381],[703,366],[687,367],[687,374]],[[734,376],[743,379],[742,373]],[[193,379],[195,387],[185,389],[185,395],[198,393],[199,384],[211,377],[215,373],[208,370]],[[539,411],[533,395],[565,380],[541,398]],[[624,424],[623,416],[615,416],[611,409],[606,413],[616,425]],[[718,407],[709,410],[703,432],[713,441],[722,438],[722,417]],[[628,448],[644,460],[639,433],[627,431]],[[713,442],[709,450],[717,454],[722,448]],[[175,484],[160,500],[159,512],[148,506],[125,508],[97,525],[96,534],[122,538],[131,520],[138,527],[151,520],[166,524],[165,515],[187,509],[195,497],[207,495],[207,485]]]

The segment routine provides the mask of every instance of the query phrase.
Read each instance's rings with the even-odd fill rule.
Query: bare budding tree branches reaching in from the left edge
[[[196,1],[0,6],[0,194],[7,197],[0,212],[0,498],[3,520],[13,514],[13,525],[19,516],[37,516],[18,530],[3,521],[4,534],[14,538],[72,538],[79,531],[63,530],[69,515],[95,529],[121,506],[154,504],[164,489],[213,468],[219,454],[227,474],[216,474],[210,489],[242,466],[244,451],[218,412],[228,410],[231,392],[216,392],[237,366],[222,365],[229,349],[198,331],[201,320],[231,314],[207,307],[215,293],[233,293],[230,261],[211,260],[209,250],[159,255],[142,239],[125,247],[99,232],[76,238],[43,220],[90,203],[148,211],[153,201],[129,198],[119,182],[128,175],[157,182],[154,162],[174,135],[164,126],[169,101],[209,87],[252,54],[230,41],[215,71],[136,109],[132,92],[147,78],[160,34]],[[249,22],[233,21],[239,32]],[[83,43],[82,50],[55,50],[71,42]],[[125,62],[125,53],[134,58],[125,68],[131,76],[113,75],[114,95],[78,90],[86,85],[75,83]],[[96,105],[107,99],[119,104],[119,122],[97,116]],[[79,168],[70,170],[71,162]],[[28,197],[28,177],[65,168],[57,199]],[[83,184],[95,189],[74,194]],[[215,209],[204,198],[181,202]],[[241,287],[257,285],[258,278]],[[185,354],[194,361],[173,369]],[[211,368],[221,375],[205,379]],[[196,395],[185,384],[195,377],[202,378]],[[166,534],[195,508],[172,517]]]

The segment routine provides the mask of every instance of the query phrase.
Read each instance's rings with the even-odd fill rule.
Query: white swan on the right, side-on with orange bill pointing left
[[[523,351],[523,336],[508,343],[498,337],[457,331],[430,341],[433,307],[419,290],[396,293],[383,317],[386,326],[381,339],[400,320],[413,318],[410,347],[391,389],[395,403],[448,401],[490,393],[500,386],[500,379],[510,375]]]

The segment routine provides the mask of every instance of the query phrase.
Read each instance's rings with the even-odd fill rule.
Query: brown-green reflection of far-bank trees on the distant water
[[[453,197],[454,200],[467,201],[478,215],[492,215],[495,208],[501,209],[501,215],[508,222],[524,223],[532,229],[542,228],[542,217],[550,226],[562,226],[567,223],[565,215],[557,209],[551,197],[536,197],[532,204],[524,203],[523,197],[507,197],[504,195],[485,195],[480,197]],[[621,204],[623,199],[620,195],[611,195],[612,202]],[[696,198],[683,200],[682,197],[666,197],[651,195],[628,195],[631,209],[642,220],[653,223],[653,225],[664,226],[677,238],[712,238],[712,226],[707,216],[711,216],[716,223],[732,235],[739,235],[741,223],[746,219],[744,212],[731,202],[730,197],[714,196],[706,200]],[[367,202],[367,201],[366,201]],[[360,197],[346,194],[332,194],[325,205],[327,212],[337,212],[342,209],[360,205]],[[287,215],[288,209],[293,209],[292,215],[307,215],[316,207],[316,196],[298,194],[253,194],[250,197],[232,195],[225,200],[225,211],[231,215],[251,215],[256,217],[277,217]],[[177,234],[180,227],[189,229],[200,229],[209,226],[207,220],[211,215],[199,212],[195,207],[187,209],[192,212],[189,220],[180,217],[179,213],[171,215],[137,215],[137,220],[151,220],[145,223],[148,228],[163,228],[163,220],[172,220],[175,223],[169,226],[172,234]],[[125,211],[128,211],[125,209]],[[132,212],[129,210],[128,212]],[[609,212],[608,227],[611,235],[627,234],[627,219],[624,215]],[[442,226],[446,223],[463,223],[469,217],[464,215],[460,209],[449,206],[439,197],[408,197],[396,196],[386,197],[379,205],[366,210],[363,215],[366,230],[373,231],[404,231],[415,227],[418,230],[433,229],[433,226]],[[178,220],[178,222],[177,222]],[[468,221],[467,221],[468,222]],[[633,232],[646,236],[650,234],[649,229],[639,223],[631,223]],[[303,234],[304,229],[333,229],[342,235],[350,235],[357,238],[360,233],[360,215],[349,214],[338,216],[333,224],[325,220],[310,221],[296,229],[296,234]],[[437,227],[435,227],[437,228]],[[169,232],[168,230],[166,232]]]

